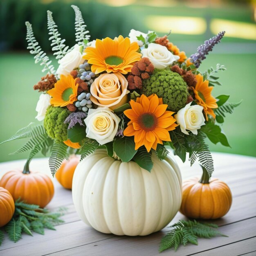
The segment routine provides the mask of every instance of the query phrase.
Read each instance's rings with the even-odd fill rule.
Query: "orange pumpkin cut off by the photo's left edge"
[[[14,210],[15,205],[10,192],[0,187],[0,227],[11,220]]]

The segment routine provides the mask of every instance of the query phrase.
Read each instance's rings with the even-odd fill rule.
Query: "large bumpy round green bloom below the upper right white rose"
[[[186,82],[178,73],[171,70],[155,69],[149,79],[143,80],[141,93],[146,96],[157,94],[163,98],[164,104],[174,112],[179,111],[186,105],[189,92]]]

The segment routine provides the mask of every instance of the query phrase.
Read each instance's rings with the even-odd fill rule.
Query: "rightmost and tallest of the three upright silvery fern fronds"
[[[76,5],[71,5],[71,7],[75,11],[75,30],[76,30],[76,42],[79,45],[85,46],[84,40],[90,39],[90,35],[88,35],[89,31],[85,29],[86,25],[83,20],[82,13],[80,9]]]

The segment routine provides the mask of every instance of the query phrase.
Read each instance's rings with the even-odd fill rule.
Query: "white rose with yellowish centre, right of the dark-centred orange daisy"
[[[192,102],[186,104],[186,106],[179,110],[174,117],[183,133],[188,135],[189,132],[186,130],[190,130],[193,134],[197,135],[198,129],[204,125],[205,119],[202,112],[204,108],[199,105],[191,106],[191,103]]]

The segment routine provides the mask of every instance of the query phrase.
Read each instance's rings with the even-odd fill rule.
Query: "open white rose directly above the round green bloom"
[[[142,57],[148,57],[155,68],[164,69],[177,61],[180,56],[173,55],[165,46],[150,43],[148,48],[141,50]]]

